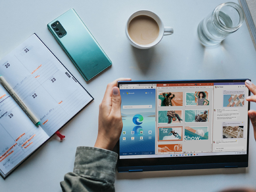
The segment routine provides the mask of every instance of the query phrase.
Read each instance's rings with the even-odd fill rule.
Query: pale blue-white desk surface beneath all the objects
[[[95,100],[61,129],[61,134],[66,136],[63,142],[57,136],[52,137],[6,180],[0,178],[0,191],[61,191],[59,182],[65,173],[73,171],[76,147],[93,146],[96,141],[99,104],[108,82],[114,79],[249,78],[256,83],[256,52],[245,22],[215,49],[205,49],[198,42],[198,23],[224,2],[226,0],[1,1],[0,58],[36,33]],[[89,82],[84,81],[47,29],[47,23],[70,8],[76,10],[113,62],[112,67]],[[174,34],[164,36],[151,49],[132,47],[125,37],[125,22],[131,13],[139,9],[157,13],[165,26],[174,28]],[[175,73],[163,70],[166,67],[175,69]],[[251,104],[251,108],[256,109],[256,105]],[[248,168],[117,173],[116,191],[216,191],[237,186],[256,188],[256,143],[252,127],[249,151]],[[204,183],[203,186],[199,186],[200,183]]]

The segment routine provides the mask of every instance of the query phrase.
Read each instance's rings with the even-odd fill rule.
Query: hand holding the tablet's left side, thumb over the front
[[[131,81],[119,78],[108,84],[105,95],[99,104],[98,136],[94,147],[113,150],[122,132],[121,96],[117,81]]]

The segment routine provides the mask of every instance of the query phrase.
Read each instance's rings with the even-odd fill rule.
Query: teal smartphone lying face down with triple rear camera
[[[86,81],[112,64],[74,9],[48,23],[47,27]]]

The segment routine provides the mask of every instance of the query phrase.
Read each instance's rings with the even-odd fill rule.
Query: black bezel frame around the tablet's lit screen
[[[245,82],[250,79],[207,79],[207,80],[170,80],[170,81],[118,81],[120,84],[172,84],[172,83],[232,83]],[[250,96],[250,90],[248,92]],[[248,102],[248,111],[250,102]],[[195,157],[155,157],[139,159],[120,159],[119,141],[117,142],[117,171],[118,172],[142,172],[160,170],[183,170],[183,169],[214,169],[214,168],[238,168],[248,167],[249,157],[249,116],[247,123],[247,154],[235,155],[210,155]]]

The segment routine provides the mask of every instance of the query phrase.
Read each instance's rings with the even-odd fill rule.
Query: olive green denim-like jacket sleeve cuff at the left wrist
[[[117,157],[102,148],[77,147],[74,170],[61,181],[62,191],[115,191]]]

